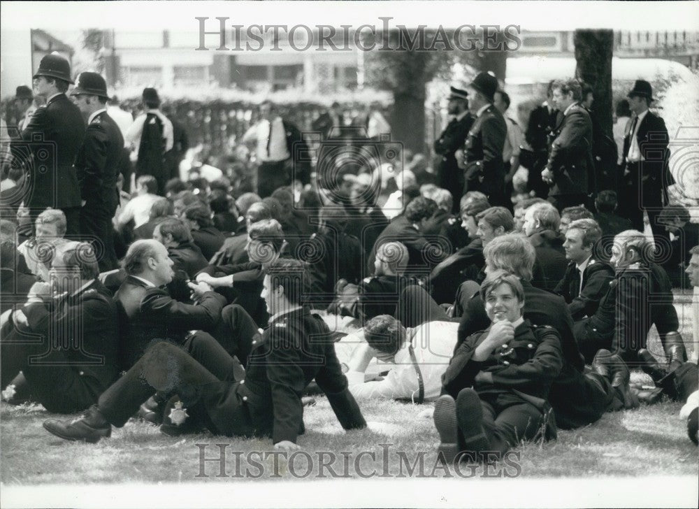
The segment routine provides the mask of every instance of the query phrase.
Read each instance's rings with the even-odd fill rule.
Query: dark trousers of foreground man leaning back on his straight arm
[[[220,380],[236,380],[239,366],[215,342],[199,345],[199,361],[180,347],[157,343],[150,347],[122,378],[99,396],[99,410],[106,420],[121,427],[156,391],[188,392],[191,387]]]

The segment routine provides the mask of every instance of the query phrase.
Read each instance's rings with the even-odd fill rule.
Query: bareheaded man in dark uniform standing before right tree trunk
[[[577,80],[556,81],[553,98],[562,115],[552,133],[554,141],[541,178],[551,186],[549,201],[559,210],[587,203],[593,192],[592,120],[579,101]]]

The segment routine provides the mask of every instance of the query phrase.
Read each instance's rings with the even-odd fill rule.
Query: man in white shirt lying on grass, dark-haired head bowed
[[[378,315],[366,322],[364,338],[347,362],[349,390],[356,399],[405,399],[431,401],[442,392],[442,373],[456,345],[455,322],[427,322],[405,329],[391,315]],[[391,371],[382,380],[364,382],[372,359]]]

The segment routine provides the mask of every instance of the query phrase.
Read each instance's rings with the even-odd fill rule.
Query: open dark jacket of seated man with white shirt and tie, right
[[[573,320],[580,320],[596,313],[614,279],[614,269],[603,261],[591,258],[582,273],[582,292],[580,291],[580,271],[571,261],[565,268],[565,275],[554,288],[568,303],[568,310]]]

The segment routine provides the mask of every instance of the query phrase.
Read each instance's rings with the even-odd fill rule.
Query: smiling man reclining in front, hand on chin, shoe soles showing
[[[443,377],[447,394],[435,403],[439,450],[447,463],[462,452],[474,460],[486,452],[503,454],[546,428],[547,436],[556,433],[547,397],[563,366],[561,336],[524,320],[517,276],[489,273],[480,295],[491,326],[459,345]]]

